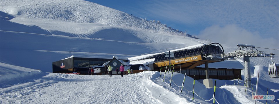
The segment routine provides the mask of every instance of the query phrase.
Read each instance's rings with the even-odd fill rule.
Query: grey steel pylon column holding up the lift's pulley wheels
[[[246,87],[251,88],[251,71],[250,71],[250,57],[244,57],[244,72],[245,80],[247,81]]]

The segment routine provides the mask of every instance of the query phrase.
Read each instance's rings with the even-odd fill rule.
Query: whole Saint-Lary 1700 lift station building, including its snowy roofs
[[[106,65],[119,68],[121,64],[125,70],[132,69],[133,73],[139,73],[144,70],[162,71],[171,69],[178,73],[186,74],[195,79],[241,79],[241,70],[243,65],[235,60],[224,60],[221,54],[224,53],[221,48],[212,44],[199,44],[185,47],[182,49],[171,50],[174,57],[166,57],[165,52],[146,54],[135,57],[118,58],[114,57],[69,57],[52,63],[53,73],[73,73],[80,71],[81,74],[88,74],[88,68],[99,68],[98,75],[106,74]],[[170,59],[170,60],[169,60]],[[181,69],[181,72],[180,72]]]

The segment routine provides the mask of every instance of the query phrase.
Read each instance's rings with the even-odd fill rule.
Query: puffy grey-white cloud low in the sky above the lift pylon
[[[272,51],[275,54],[279,54],[278,39],[274,37],[263,37],[258,32],[251,32],[238,27],[237,25],[226,25],[221,27],[219,25],[213,25],[205,28],[198,35],[203,40],[210,39],[212,42],[218,42],[221,44],[227,44],[235,46],[237,44],[250,44],[255,45],[259,51]],[[262,49],[262,48],[270,48]]]

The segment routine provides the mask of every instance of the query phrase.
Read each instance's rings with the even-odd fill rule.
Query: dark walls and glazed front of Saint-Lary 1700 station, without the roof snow
[[[219,43],[212,43],[219,44]],[[186,74],[190,77],[196,79],[206,79],[205,67],[201,67],[205,63],[219,63],[223,62],[224,59],[220,57],[223,54],[223,48],[215,46],[212,44],[203,45],[196,48],[184,49],[178,51],[172,51],[174,53],[174,58],[171,58],[171,68],[180,71],[181,73]],[[220,44],[219,44],[220,45]],[[221,45],[220,45],[221,46]],[[222,46],[221,46],[222,47]],[[164,53],[158,53],[149,57],[134,61],[142,61],[154,59],[151,69],[154,71],[161,71],[169,67],[169,57],[165,57]],[[109,62],[110,61],[110,62]],[[122,60],[123,62],[128,62],[128,58]],[[106,74],[106,67],[103,64],[110,64],[112,67],[119,68],[122,64],[116,58],[84,58],[84,57],[71,57],[64,60],[56,61],[52,63],[53,73],[72,73],[80,71],[81,74],[88,74],[88,68],[95,67],[101,68],[100,74]],[[226,63],[225,63],[226,64]],[[220,64],[218,64],[220,65]],[[133,69],[134,73],[139,73],[144,70],[139,70],[141,65],[129,65],[130,69]],[[228,64],[228,66],[230,66]],[[235,65],[234,65],[235,66]],[[209,78],[213,79],[241,79],[241,65],[239,62],[237,64],[239,67],[229,68],[227,66],[223,67],[208,67]],[[115,70],[115,69],[114,69]],[[113,70],[113,71],[114,71]]]

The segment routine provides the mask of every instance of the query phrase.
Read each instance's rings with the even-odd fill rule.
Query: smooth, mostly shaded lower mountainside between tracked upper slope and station
[[[96,23],[72,23],[21,16],[15,16],[10,21],[0,21],[1,61],[44,72],[51,72],[51,62],[73,54],[132,57],[203,42],[183,36],[168,36]],[[24,61],[25,59],[29,60]]]

